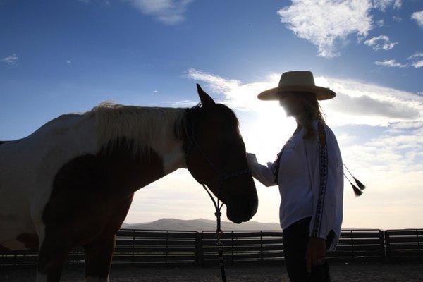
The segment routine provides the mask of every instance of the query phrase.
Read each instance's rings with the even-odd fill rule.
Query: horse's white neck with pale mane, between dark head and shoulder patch
[[[106,115],[100,110],[96,116],[97,137],[103,152],[113,151],[119,138],[124,137],[125,147],[130,148],[132,152],[128,153],[133,157],[139,152],[147,160],[158,157],[164,176],[186,168],[183,150],[186,109],[137,107],[125,116],[126,121]]]

